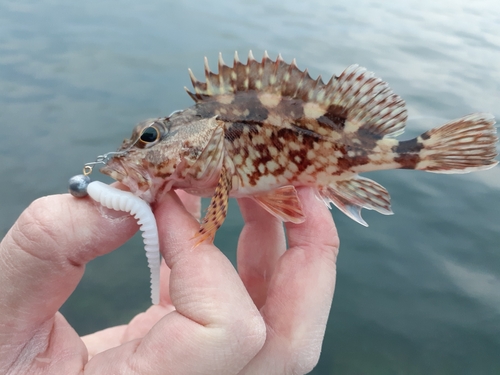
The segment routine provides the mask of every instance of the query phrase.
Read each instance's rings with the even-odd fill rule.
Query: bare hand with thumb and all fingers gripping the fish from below
[[[252,200],[239,200],[239,273],[214,245],[193,249],[199,198],[179,193],[184,206],[174,192],[165,194],[154,207],[166,261],[160,305],[84,337],[58,309],[85,264],[122,245],[137,225],[89,198],[36,200],[0,244],[0,373],[310,371],[332,302],[339,241],[325,205],[310,189],[298,192],[307,219],[285,224],[286,252],[282,224]]]

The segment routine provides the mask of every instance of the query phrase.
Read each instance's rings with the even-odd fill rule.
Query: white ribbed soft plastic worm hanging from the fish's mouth
[[[125,211],[133,215],[140,225],[144,239],[144,249],[151,270],[151,301],[160,302],[160,245],[158,228],[151,207],[134,194],[116,189],[100,181],[93,181],[87,187],[90,197],[107,208]]]

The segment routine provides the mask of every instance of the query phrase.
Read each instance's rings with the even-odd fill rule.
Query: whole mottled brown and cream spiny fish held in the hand
[[[214,239],[229,197],[250,197],[285,222],[305,220],[296,187],[308,186],[367,226],[361,210],[392,214],[390,195],[360,173],[414,169],[467,173],[498,161],[495,119],[473,113],[409,140],[404,100],[374,73],[347,67],[324,83],[300,70],[295,59],[250,51],[233,66],[219,54],[218,72],[205,58],[205,81],[191,70],[194,105],[133,129],[101,172],[153,203],[183,189],[210,197],[197,235]]]

